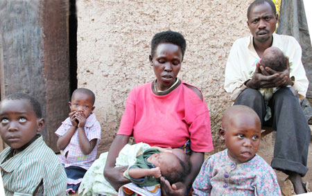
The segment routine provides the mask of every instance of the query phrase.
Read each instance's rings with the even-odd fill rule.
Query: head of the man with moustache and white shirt
[[[254,42],[272,42],[272,33],[275,31],[277,21],[278,16],[273,13],[269,3],[253,6],[247,24]]]

